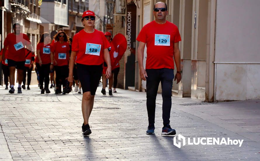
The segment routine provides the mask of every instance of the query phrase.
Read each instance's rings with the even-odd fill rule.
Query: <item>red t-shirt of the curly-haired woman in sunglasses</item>
[[[57,61],[57,65],[55,66],[64,66],[68,65],[69,59],[70,59],[70,45],[68,42],[63,42],[62,44],[60,41],[55,42],[53,47],[51,48],[51,51],[53,52],[54,56],[53,58]]]

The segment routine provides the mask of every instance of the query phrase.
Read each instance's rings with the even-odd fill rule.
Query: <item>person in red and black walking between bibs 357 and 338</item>
[[[25,56],[25,65],[24,65],[24,70],[23,70],[22,89],[25,90],[26,72],[27,72],[27,90],[30,90],[32,68],[33,68],[35,55],[27,48],[25,49],[25,54],[26,54],[26,56]]]

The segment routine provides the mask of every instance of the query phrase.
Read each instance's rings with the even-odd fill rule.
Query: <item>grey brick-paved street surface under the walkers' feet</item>
[[[214,122],[198,117],[193,114],[197,112],[196,109],[191,108],[191,105],[196,103],[195,107],[208,108],[216,104],[173,97],[171,126],[176,129],[177,135],[185,137],[244,139],[241,147],[200,144],[177,148],[173,144],[174,137],[160,135],[162,130],[160,95],[157,96],[155,135],[146,135],[148,122],[145,93],[118,89],[113,96],[103,96],[100,91],[101,87],[97,90],[89,122],[92,134],[82,136],[82,94],[72,92],[57,96],[51,90],[51,94],[41,95],[36,86],[32,86],[31,90],[23,90],[22,94],[17,94],[17,88],[15,94],[8,94],[8,90],[0,87],[2,130],[0,130],[0,158],[2,160],[260,160],[258,141],[219,126],[217,119]]]

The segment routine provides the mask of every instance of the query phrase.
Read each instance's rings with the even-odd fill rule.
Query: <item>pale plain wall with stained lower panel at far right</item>
[[[259,6],[259,0],[217,0],[215,62],[227,62],[216,64],[217,101],[260,99]]]

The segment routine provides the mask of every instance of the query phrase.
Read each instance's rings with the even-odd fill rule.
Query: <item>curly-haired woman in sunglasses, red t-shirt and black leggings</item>
[[[68,43],[69,37],[62,31],[55,35],[55,43],[51,49],[53,52],[54,71],[56,73],[56,91],[55,94],[61,93],[61,85],[63,86],[63,94],[69,93],[65,91],[67,80],[69,76],[69,61],[70,61],[70,45]]]

